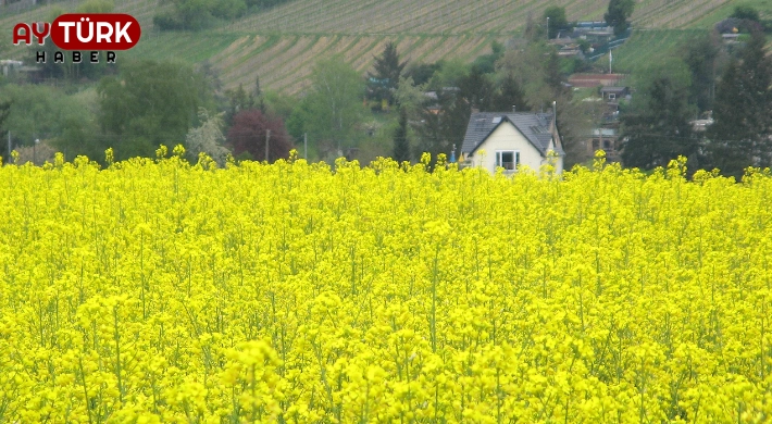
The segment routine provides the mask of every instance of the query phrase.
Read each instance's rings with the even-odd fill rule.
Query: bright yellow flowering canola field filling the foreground
[[[772,420],[769,172],[453,166],[3,166],[0,423]]]

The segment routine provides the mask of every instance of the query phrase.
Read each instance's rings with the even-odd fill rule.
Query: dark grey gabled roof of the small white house
[[[473,153],[499,125],[509,122],[514,125],[525,138],[541,153],[547,155],[549,141],[552,140],[550,124],[551,113],[528,112],[478,112],[469,120],[466,135],[461,146],[461,152]],[[556,141],[556,152],[562,154],[560,144]]]

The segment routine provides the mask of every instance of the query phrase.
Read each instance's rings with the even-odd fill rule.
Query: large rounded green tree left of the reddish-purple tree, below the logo
[[[120,78],[103,78],[98,92],[105,148],[127,159],[184,142],[201,103],[199,79],[186,65],[149,60],[125,64]]]

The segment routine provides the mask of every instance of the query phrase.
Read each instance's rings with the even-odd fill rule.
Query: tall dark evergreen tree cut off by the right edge
[[[772,165],[772,61],[764,43],[763,34],[755,33],[717,87],[707,150],[711,164],[726,175]]]

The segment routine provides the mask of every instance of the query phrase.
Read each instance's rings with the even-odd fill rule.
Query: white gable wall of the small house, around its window
[[[485,154],[481,154],[481,150]],[[538,172],[539,167],[547,163],[547,160],[541,157],[541,153],[531,144],[520,132],[509,122],[499,125],[498,128],[475,150],[472,159],[474,166],[481,166],[491,174],[496,172],[496,151],[497,150],[514,150],[520,151],[520,165],[527,165],[532,170]],[[556,171],[563,171],[563,158],[557,158]]]

